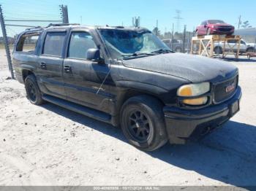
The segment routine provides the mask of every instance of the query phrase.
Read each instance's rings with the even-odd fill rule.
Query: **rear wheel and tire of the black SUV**
[[[41,105],[44,103],[44,101],[42,100],[42,93],[37,85],[36,77],[34,77],[33,74],[30,74],[26,77],[25,89],[27,98],[29,99],[31,104]]]

